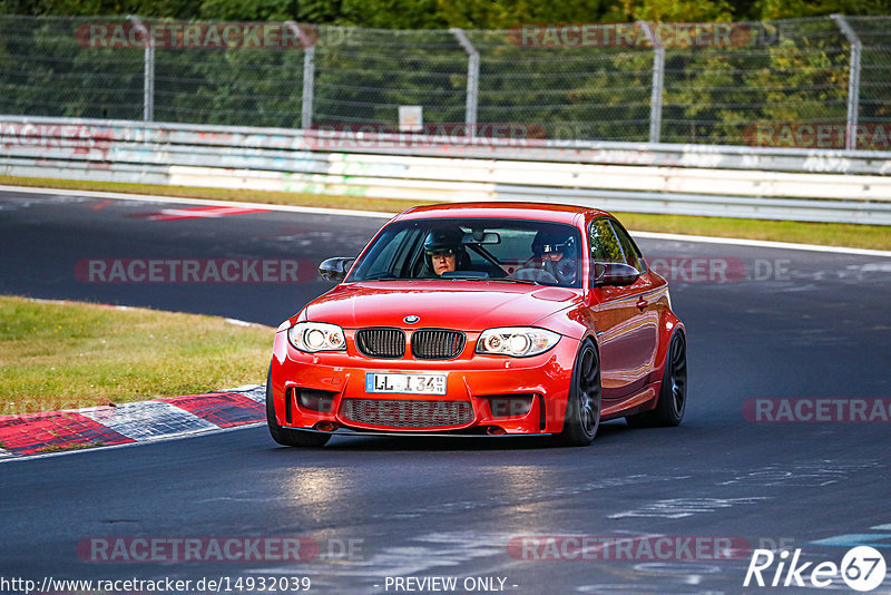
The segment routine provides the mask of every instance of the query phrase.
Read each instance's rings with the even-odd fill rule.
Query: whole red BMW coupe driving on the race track
[[[686,338],[665,279],[603,211],[472,203],[405,211],[339,284],[282,323],[266,382],[273,439],[552,435],[603,420],[681,423]]]

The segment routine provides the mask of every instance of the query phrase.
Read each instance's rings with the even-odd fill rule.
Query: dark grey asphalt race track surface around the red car
[[[169,208],[61,192],[3,193],[0,293],[277,325],[330,285],[90,283],[76,267],[89,259],[319,263],[354,255],[385,221],[148,215]],[[4,462],[0,576],[38,585],[46,577],[169,577],[192,581],[192,593],[214,591],[196,589],[202,578],[223,579],[221,592],[228,585],[237,593],[239,577],[309,577],[310,593],[369,594],[433,592],[448,583],[404,579],[446,577],[457,579],[446,589],[456,593],[672,595],[814,593],[821,591],[810,583],[814,566],[841,565],[861,544],[891,564],[889,419],[805,420],[817,407],[831,414],[848,400],[866,400],[868,413],[879,403],[889,414],[891,259],[639,244],[652,264],[667,263],[674,309],[687,325],[689,402],[679,428],[608,422],[591,447],[577,449],[540,439],[335,438],[323,449],[298,450],[276,446],[265,427],[253,426]],[[703,273],[709,270],[732,273],[709,279]],[[216,388],[223,387],[208,387]],[[766,422],[753,417],[753,399],[809,399],[813,409]],[[203,559],[165,562],[169,556],[153,556],[134,538],[168,546],[203,538]],[[274,550],[261,546],[248,560],[214,557],[208,544],[228,538],[264,538]],[[295,538],[313,559],[276,559],[275,547]],[[629,538],[624,550],[598,546],[616,538]],[[811,563],[799,575],[806,586],[795,586],[794,576],[782,586],[792,556],[779,568],[777,554],[763,570],[768,586],[753,579],[744,587],[753,549],[780,546],[800,549],[799,567]],[[101,559],[115,547],[125,552],[118,562]],[[775,574],[780,586],[771,587]],[[829,576],[833,592],[854,593],[840,575]],[[242,593],[256,592],[254,585],[243,582]],[[872,593],[891,593],[891,581]]]

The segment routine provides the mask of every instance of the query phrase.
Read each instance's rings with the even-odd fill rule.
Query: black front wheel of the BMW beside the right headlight
[[[566,421],[559,441],[562,446],[588,446],[600,427],[600,358],[586,339],[572,367],[572,383],[566,403]]]

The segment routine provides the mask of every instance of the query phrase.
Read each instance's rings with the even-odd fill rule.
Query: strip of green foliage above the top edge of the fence
[[[382,29],[508,29],[519,22],[705,22],[889,14],[891,0],[0,0],[2,14],[126,16]]]

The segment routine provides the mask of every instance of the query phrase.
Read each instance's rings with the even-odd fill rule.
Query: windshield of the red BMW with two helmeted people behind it
[[[347,282],[491,280],[581,286],[581,235],[567,224],[522,220],[412,220],[388,225]]]

